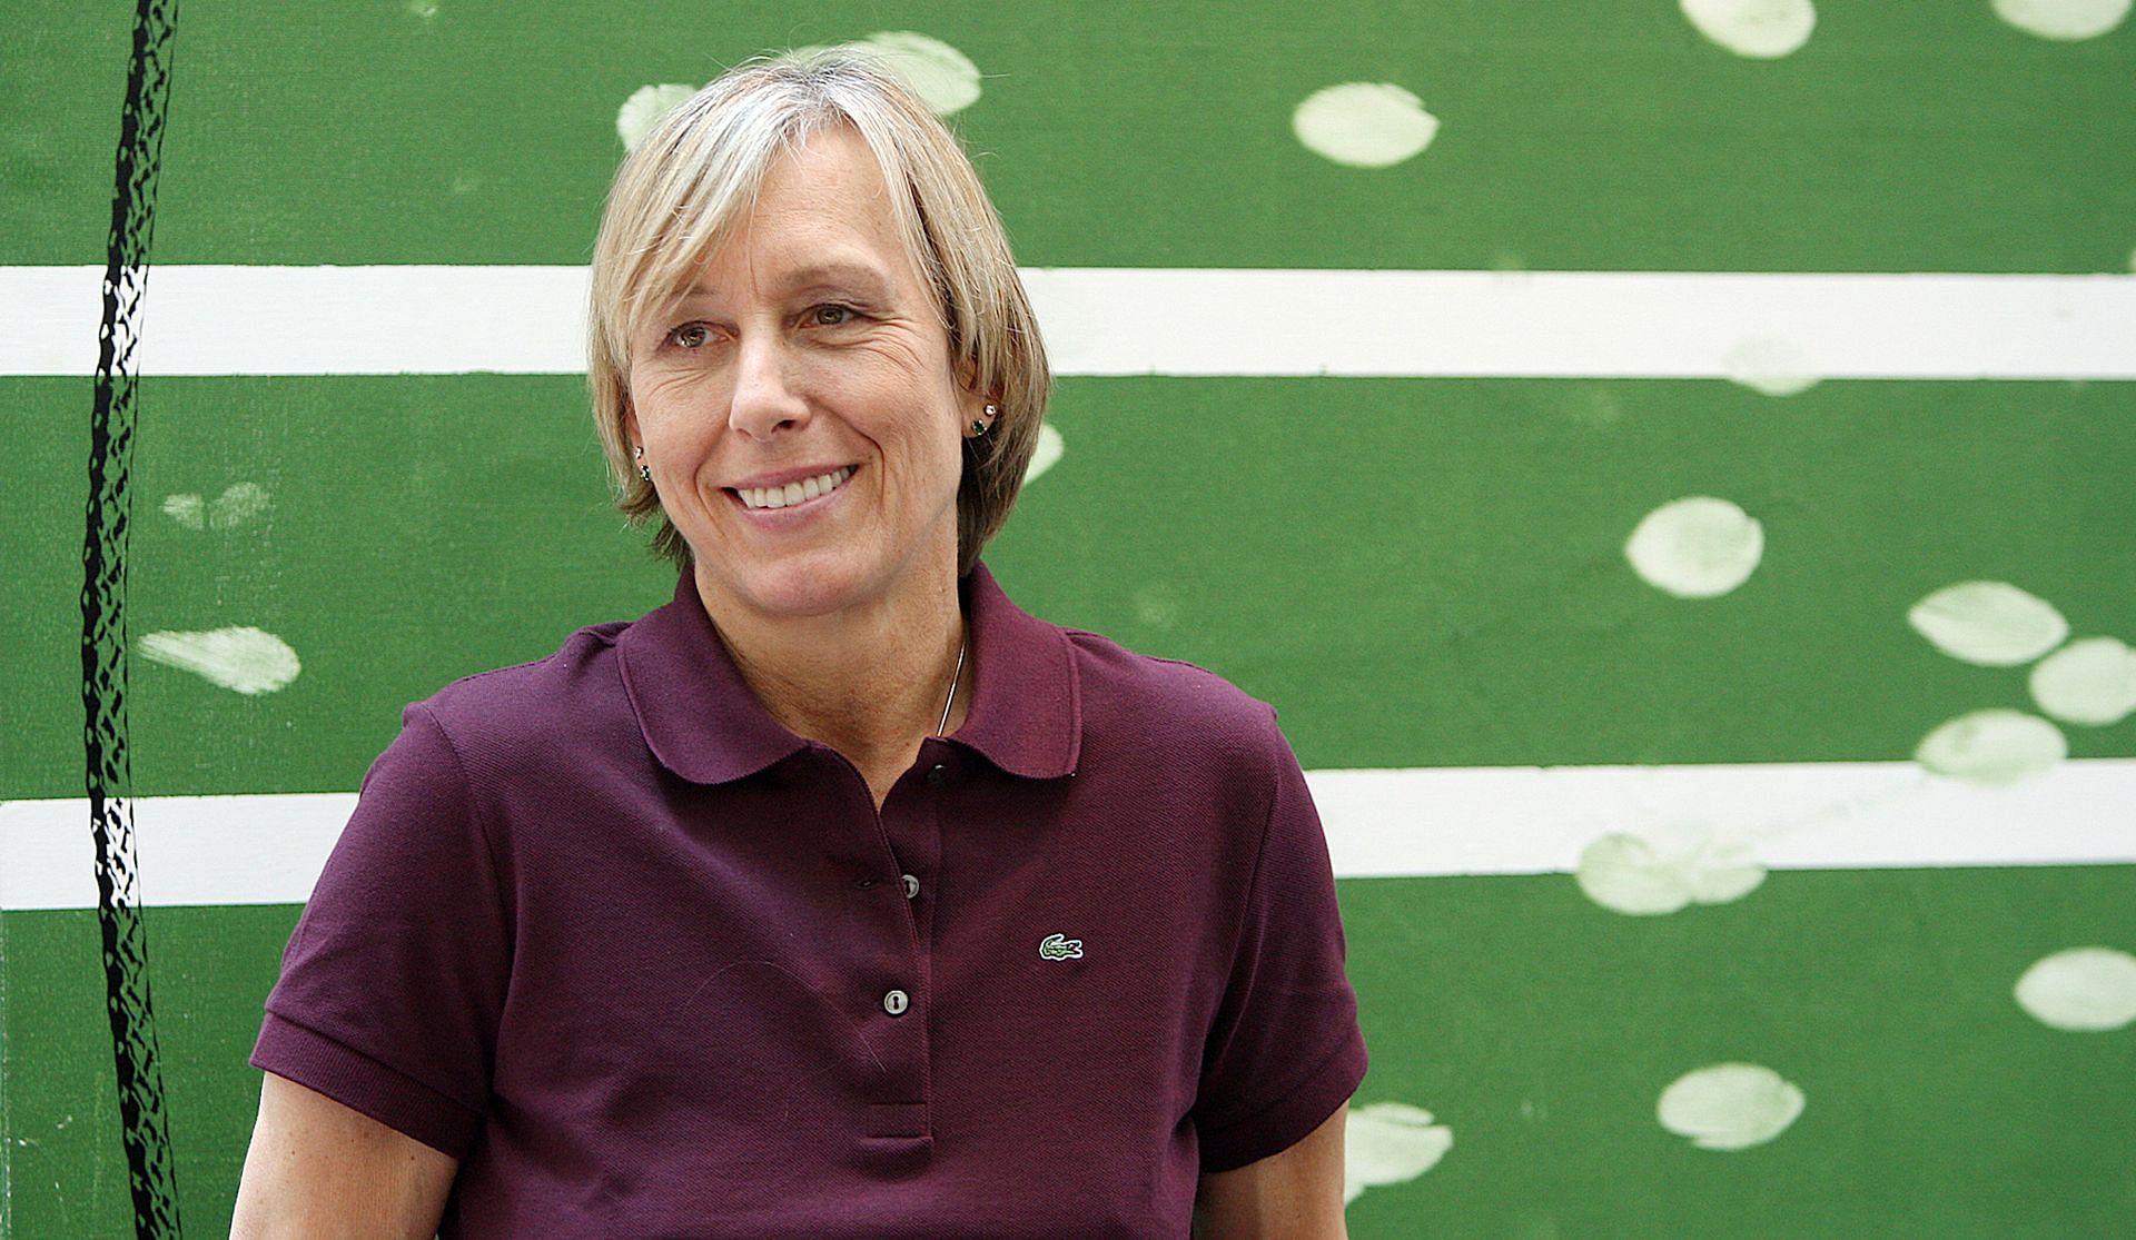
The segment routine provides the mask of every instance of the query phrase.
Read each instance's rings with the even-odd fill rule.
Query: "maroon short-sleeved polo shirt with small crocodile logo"
[[[252,1063],[457,1159],[444,1236],[1185,1236],[1365,1074],[1269,706],[963,583],[882,811],[690,574],[408,706]]]

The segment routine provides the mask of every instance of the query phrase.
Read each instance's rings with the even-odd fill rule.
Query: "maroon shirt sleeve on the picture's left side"
[[[506,926],[453,743],[408,706],[282,954],[252,1065],[466,1157],[489,1099]]]

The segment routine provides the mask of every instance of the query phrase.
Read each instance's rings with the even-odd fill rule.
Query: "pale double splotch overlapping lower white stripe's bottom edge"
[[[1690,905],[1741,901],[1764,881],[1764,864],[1743,839],[1726,839],[1707,824],[1675,822],[1596,839],[1581,849],[1572,877],[1604,909],[1653,918]]]

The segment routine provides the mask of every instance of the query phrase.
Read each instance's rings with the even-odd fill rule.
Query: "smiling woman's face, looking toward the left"
[[[874,154],[835,128],[632,341],[626,429],[716,615],[829,615],[955,581],[978,408]]]

